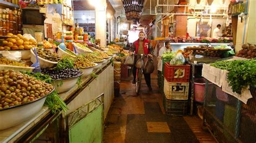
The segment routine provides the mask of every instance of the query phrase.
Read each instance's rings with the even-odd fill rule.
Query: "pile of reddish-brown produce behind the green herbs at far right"
[[[256,46],[249,43],[244,44],[242,45],[242,49],[235,55],[247,59],[256,58]]]

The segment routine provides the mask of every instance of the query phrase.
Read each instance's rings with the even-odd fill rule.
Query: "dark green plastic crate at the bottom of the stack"
[[[187,115],[188,101],[170,100],[164,96],[164,109],[167,116]]]

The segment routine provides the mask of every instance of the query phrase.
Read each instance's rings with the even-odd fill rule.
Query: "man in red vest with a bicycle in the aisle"
[[[139,39],[133,42],[132,47],[130,48],[130,54],[133,54],[133,53],[137,54],[134,57],[135,60],[134,60],[134,65],[133,65],[133,69],[132,69],[132,74],[133,74],[132,83],[135,84],[136,83],[136,71],[137,71],[135,64],[136,64],[136,61],[140,58],[140,54],[147,55],[151,58],[153,57],[152,56],[153,51],[152,51],[152,47],[150,44],[150,40],[145,39],[144,32],[139,32]],[[145,77],[147,87],[149,87],[149,90],[152,90],[150,74],[145,74],[145,73],[143,73],[143,74]]]

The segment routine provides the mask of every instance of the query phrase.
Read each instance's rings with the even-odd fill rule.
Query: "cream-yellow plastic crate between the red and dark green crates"
[[[190,83],[167,82],[164,78],[164,94],[167,99],[187,100]]]

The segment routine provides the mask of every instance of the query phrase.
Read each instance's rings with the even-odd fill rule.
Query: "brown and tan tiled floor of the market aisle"
[[[104,142],[215,142],[210,133],[201,130],[199,117],[165,115],[156,74],[151,75],[153,91],[148,90],[143,79],[139,96],[131,80],[121,82],[122,96],[114,98],[105,123]]]

